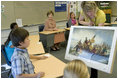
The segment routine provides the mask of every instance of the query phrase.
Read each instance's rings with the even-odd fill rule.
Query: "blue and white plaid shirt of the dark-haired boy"
[[[30,61],[27,49],[15,48],[11,57],[11,69],[13,77],[20,74],[34,74],[34,66]]]

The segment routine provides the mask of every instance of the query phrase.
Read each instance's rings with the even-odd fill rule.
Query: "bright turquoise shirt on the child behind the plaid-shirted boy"
[[[11,45],[12,45],[12,42],[10,41],[9,44],[7,46],[5,46],[5,51],[6,51],[7,58],[9,61],[11,61],[11,56],[12,56],[14,49],[15,49],[15,48],[11,48],[10,47]]]

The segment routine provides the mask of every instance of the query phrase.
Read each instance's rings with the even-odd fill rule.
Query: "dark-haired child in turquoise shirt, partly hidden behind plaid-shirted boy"
[[[11,25],[10,25],[11,31],[15,28],[18,28],[17,23],[11,23]],[[11,56],[14,52],[14,46],[12,45],[12,42],[10,39],[10,34],[11,34],[11,32],[9,33],[8,39],[5,42],[5,51],[6,51],[6,55],[7,55],[9,61],[11,61]]]

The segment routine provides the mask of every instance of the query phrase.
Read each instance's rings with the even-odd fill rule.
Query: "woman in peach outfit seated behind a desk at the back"
[[[48,19],[45,21],[45,27],[44,31],[57,31],[58,29],[56,28],[56,22],[53,19],[54,13],[53,11],[48,11],[47,12],[47,17]],[[64,33],[62,35],[55,34],[54,36],[54,45],[51,47],[52,50],[59,50],[59,42],[56,42],[56,37],[60,37],[61,39],[58,39],[59,41],[64,40]]]

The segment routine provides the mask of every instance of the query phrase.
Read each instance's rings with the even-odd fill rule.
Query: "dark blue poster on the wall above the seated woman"
[[[55,12],[66,11],[66,1],[55,1]]]

